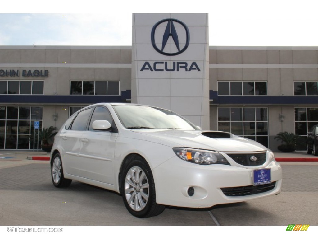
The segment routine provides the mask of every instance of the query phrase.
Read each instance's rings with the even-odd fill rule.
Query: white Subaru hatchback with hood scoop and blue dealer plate
[[[282,183],[273,152],[258,142],[134,104],[74,113],[55,136],[50,165],[54,186],[77,180],[113,190],[136,217],[266,197]]]

